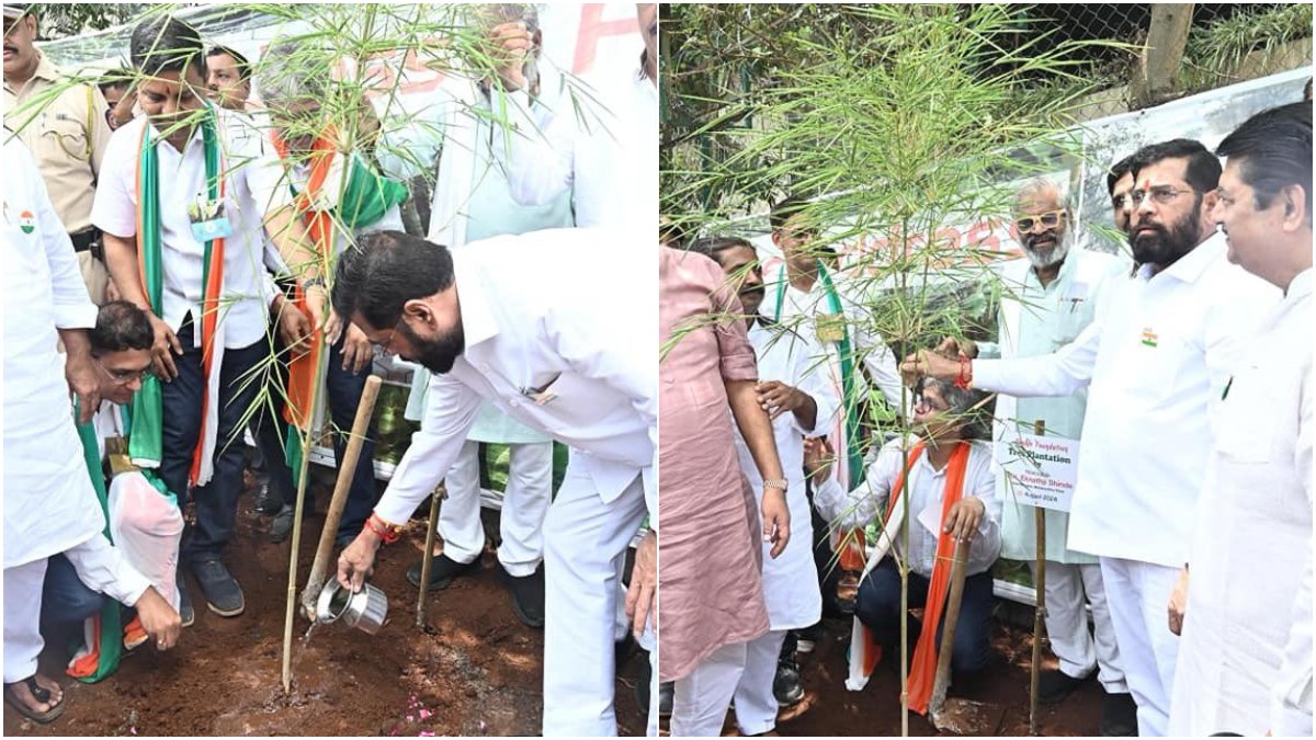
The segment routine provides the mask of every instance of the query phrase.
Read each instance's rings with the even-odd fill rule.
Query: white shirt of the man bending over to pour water
[[[482,399],[570,445],[572,465],[590,471],[604,502],[644,474],[653,504],[658,284],[645,277],[657,274],[657,250],[619,245],[632,246],[601,229],[551,229],[453,253],[466,352],[430,382],[421,431],[379,516],[405,521],[434,490]],[[551,400],[536,403],[532,388]]]

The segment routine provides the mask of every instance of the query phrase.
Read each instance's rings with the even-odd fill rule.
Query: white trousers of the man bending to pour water
[[[544,520],[544,735],[617,733],[617,564],[644,517],[638,474],[604,503],[572,457]]]

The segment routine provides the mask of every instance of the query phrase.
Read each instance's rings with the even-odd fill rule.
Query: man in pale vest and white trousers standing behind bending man
[[[482,20],[512,20],[501,17],[497,9]],[[524,12],[524,21],[533,34],[537,14],[533,7]],[[536,125],[542,129],[550,121],[554,105],[551,91],[558,84],[553,80],[537,87],[541,95],[536,95],[530,105]],[[384,136],[382,162],[393,174],[411,178],[421,174],[413,163],[429,165],[438,159],[437,176],[433,171],[425,172],[434,176],[428,233],[434,244],[462,249],[468,242],[490,237],[572,225],[569,192],[537,205],[521,205],[512,199],[507,171],[494,155],[494,140],[504,133],[495,122],[497,112],[491,105],[495,93],[490,84],[447,78],[422,109],[396,133]],[[388,121],[384,125],[387,128]],[[429,370],[424,367],[412,377],[408,419],[424,419],[430,379]],[[488,403],[480,407],[466,445],[445,478],[447,498],[438,512],[443,552],[433,562],[430,589],[443,589],[454,577],[479,568],[486,539],[480,521],[484,498],[479,474],[480,442],[509,448],[507,490],[501,495],[491,492],[491,503],[501,508],[497,558],[512,590],[513,612],[525,624],[542,627],[544,573],[540,564],[544,561],[544,517],[553,492],[553,440]],[[415,585],[420,585],[420,570],[417,562],[407,571],[407,578]]]

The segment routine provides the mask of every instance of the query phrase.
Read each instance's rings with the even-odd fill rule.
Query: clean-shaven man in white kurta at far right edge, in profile
[[[1229,259],[1284,298],[1220,403],[1171,735],[1312,735],[1311,133],[1311,105],[1292,104],[1254,116],[1217,150],[1228,162],[1215,219]]]

